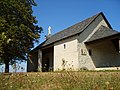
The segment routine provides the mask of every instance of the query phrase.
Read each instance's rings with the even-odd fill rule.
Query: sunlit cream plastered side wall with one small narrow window
[[[78,70],[77,44],[76,36],[54,44],[54,71]]]

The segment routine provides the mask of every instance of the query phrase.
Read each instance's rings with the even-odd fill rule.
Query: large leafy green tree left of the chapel
[[[9,64],[27,60],[38,41],[41,27],[32,15],[34,0],[0,0],[0,61],[9,72]]]

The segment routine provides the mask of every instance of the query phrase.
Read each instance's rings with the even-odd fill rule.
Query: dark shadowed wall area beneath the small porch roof
[[[86,47],[96,68],[120,67],[120,53],[111,40],[91,43]]]

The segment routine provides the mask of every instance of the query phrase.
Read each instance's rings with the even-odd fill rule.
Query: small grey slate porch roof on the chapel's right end
[[[119,32],[101,25],[99,29],[92,35],[92,37],[86,42],[95,41],[95,40],[106,38],[116,34],[119,34]]]

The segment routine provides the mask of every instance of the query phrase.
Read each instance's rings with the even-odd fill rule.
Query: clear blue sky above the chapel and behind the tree
[[[103,12],[114,30],[120,31],[120,0],[35,0],[37,6],[33,7],[33,15],[36,16],[39,26],[43,28],[39,43],[45,40],[48,27],[52,27],[52,35],[89,18],[99,12]],[[23,62],[18,71],[26,71],[26,63]],[[4,65],[2,66],[4,67]],[[0,72],[3,68],[0,68]],[[11,72],[14,70],[11,68]]]

